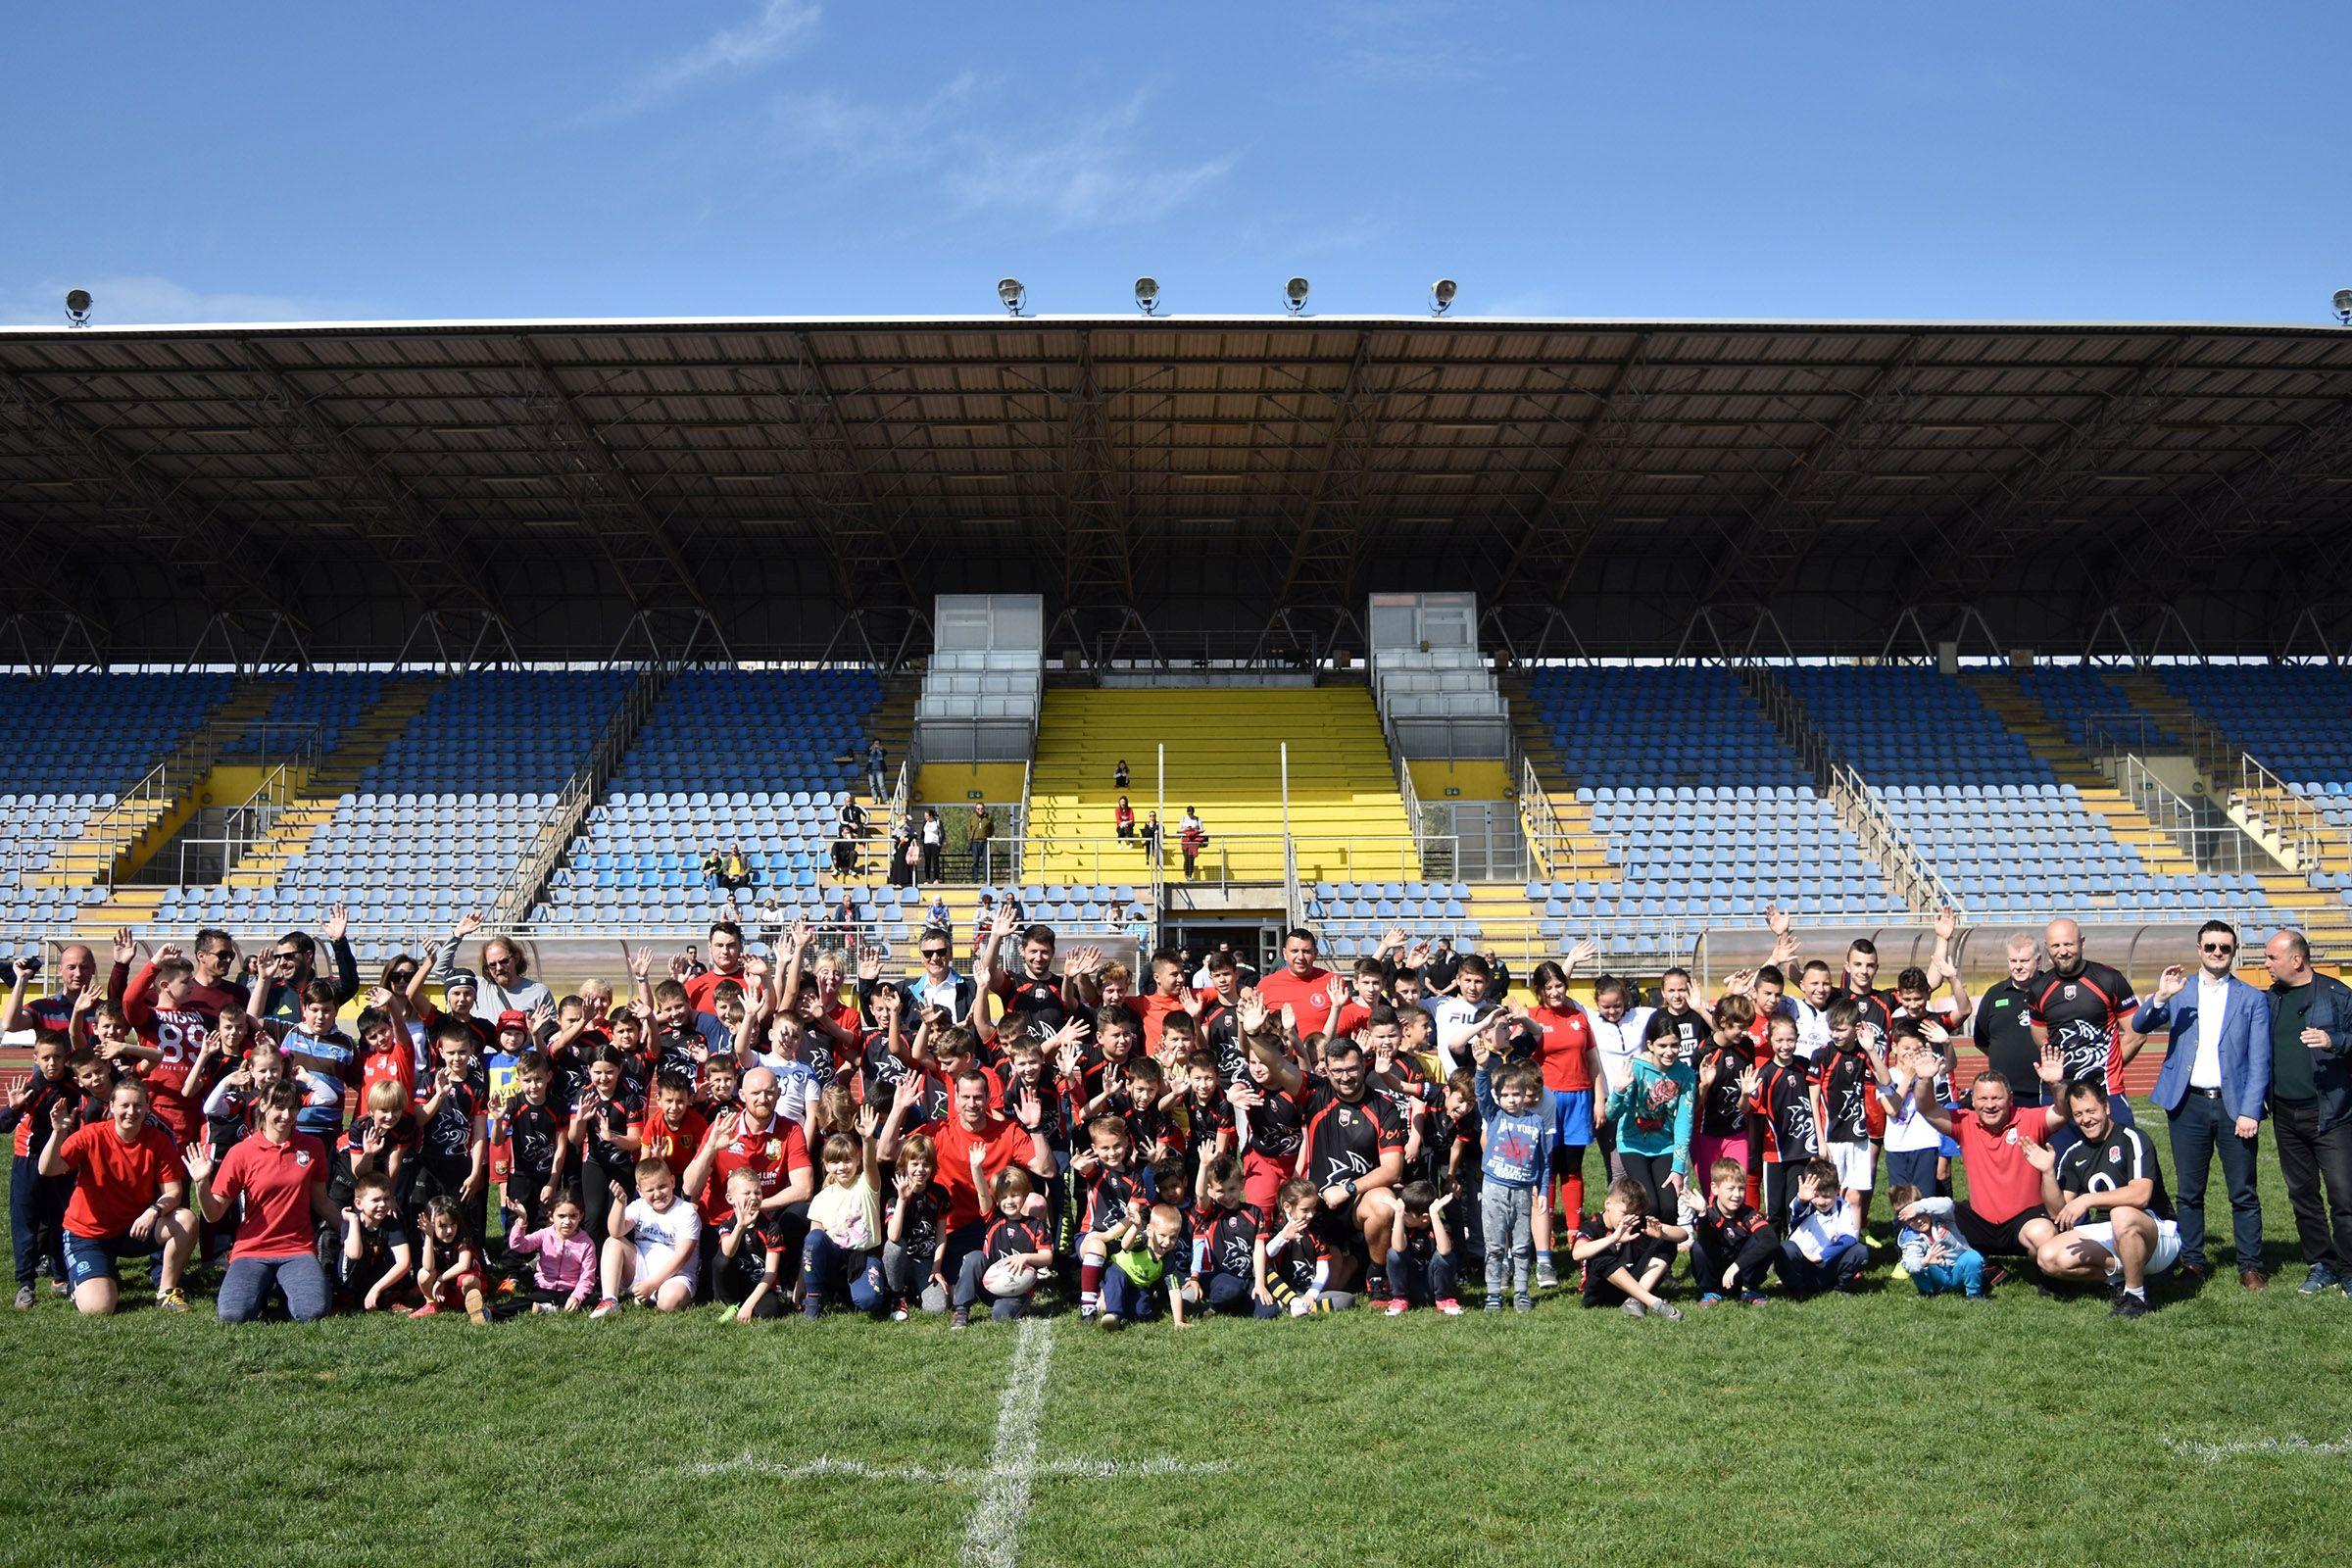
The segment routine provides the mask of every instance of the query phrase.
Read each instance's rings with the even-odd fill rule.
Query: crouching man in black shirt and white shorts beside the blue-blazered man
[[[2147,1316],[2147,1276],[2180,1258],[2157,1145],[2107,1114],[2107,1095],[2089,1079],[2067,1084],[2060,1103],[2074,1121],[2074,1145],[2065,1154],[2023,1147],[2042,1173],[2042,1206],[2056,1227],[2034,1248],[2034,1267],[2051,1279],[2105,1281],[2114,1291],[2110,1316]],[[2096,1213],[2107,1218],[2093,1220]]]

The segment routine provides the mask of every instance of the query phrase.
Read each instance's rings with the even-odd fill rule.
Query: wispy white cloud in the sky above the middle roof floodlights
[[[837,94],[776,101],[786,158],[837,176],[908,172],[960,212],[1025,214],[1047,228],[1108,228],[1160,219],[1218,183],[1237,153],[1160,160],[1148,150],[1148,92],[1091,115],[983,125],[988,96],[962,73],[917,103],[861,103]]]

